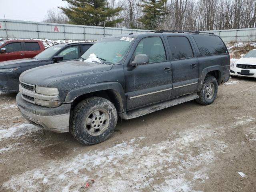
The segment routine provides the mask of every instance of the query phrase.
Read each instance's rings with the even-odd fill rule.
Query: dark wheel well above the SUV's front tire
[[[122,97],[120,96],[120,94],[116,90],[101,90],[101,91],[96,91],[96,92],[92,92],[92,93],[87,93],[87,94],[81,95],[81,96],[77,97],[72,102],[71,110],[73,110],[74,107],[80,101],[82,101],[82,100],[84,100],[86,98],[89,98],[89,97],[102,97],[102,98],[105,98],[105,99],[109,100],[110,102],[112,102],[114,104],[117,112],[123,112],[123,110],[124,110],[124,106],[123,106],[123,103],[122,103]]]

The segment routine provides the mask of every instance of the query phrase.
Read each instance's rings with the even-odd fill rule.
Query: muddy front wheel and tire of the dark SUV
[[[92,97],[74,108],[70,132],[82,144],[97,144],[114,132],[116,123],[115,106],[107,99]]]

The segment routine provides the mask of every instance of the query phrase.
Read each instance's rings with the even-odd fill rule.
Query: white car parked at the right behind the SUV
[[[250,50],[241,58],[230,63],[230,76],[246,76],[256,78],[256,49]]]

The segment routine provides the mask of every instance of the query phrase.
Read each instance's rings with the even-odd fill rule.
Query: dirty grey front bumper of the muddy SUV
[[[55,108],[47,108],[26,102],[21,94],[16,96],[16,102],[22,116],[53,132],[68,132],[71,104],[62,104]]]

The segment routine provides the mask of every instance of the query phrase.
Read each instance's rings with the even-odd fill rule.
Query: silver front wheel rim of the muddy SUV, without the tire
[[[108,112],[104,109],[94,110],[86,118],[86,132],[92,136],[100,135],[108,128],[108,124]]]

